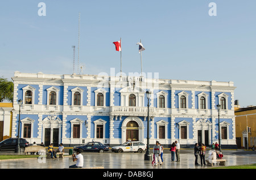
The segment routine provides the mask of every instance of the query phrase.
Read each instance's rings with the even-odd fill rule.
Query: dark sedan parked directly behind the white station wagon
[[[75,146],[73,148],[73,151],[77,151],[81,149],[81,152],[105,152],[105,151],[109,151],[109,146],[108,145],[104,145],[100,142],[88,142],[84,145],[79,145],[79,146]]]

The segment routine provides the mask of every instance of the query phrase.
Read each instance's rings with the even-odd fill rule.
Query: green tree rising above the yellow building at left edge
[[[7,78],[0,78],[0,102],[7,100],[13,102],[13,82],[7,80]]]

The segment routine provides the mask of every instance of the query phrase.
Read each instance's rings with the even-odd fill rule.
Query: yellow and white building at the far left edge
[[[13,103],[0,102],[0,141],[11,138]]]

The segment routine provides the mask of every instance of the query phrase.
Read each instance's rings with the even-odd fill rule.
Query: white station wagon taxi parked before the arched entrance
[[[112,152],[138,152],[142,153],[147,148],[146,144],[142,142],[125,142],[111,148]]]

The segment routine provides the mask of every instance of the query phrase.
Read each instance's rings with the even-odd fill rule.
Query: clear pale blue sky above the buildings
[[[46,16],[38,15],[39,2],[46,3]],[[210,2],[217,16],[209,16]],[[161,79],[232,81],[240,105],[256,105],[255,7],[255,0],[3,1],[0,76],[72,74],[80,12],[83,74],[119,71],[112,42],[120,37],[122,71],[141,72],[141,39],[144,72],[158,72]]]

